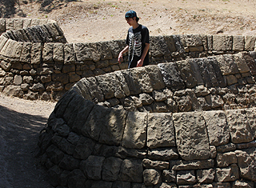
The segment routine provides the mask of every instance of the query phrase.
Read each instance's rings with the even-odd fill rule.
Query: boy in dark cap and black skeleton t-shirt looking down
[[[126,37],[126,47],[119,53],[118,62],[122,62],[122,54],[128,53],[128,69],[149,65],[150,34],[146,26],[138,24],[134,10],[126,12],[126,22],[131,26]]]

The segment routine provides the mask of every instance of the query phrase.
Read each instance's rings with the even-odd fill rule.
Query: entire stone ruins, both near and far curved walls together
[[[256,187],[254,36],[67,43],[54,21],[0,19],[0,91],[58,100],[38,139],[55,187]],[[125,58],[126,60],[126,58]]]

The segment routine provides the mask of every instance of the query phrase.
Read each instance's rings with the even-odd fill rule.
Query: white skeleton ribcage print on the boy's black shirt
[[[130,62],[132,62],[134,55],[138,57],[141,57],[142,55],[142,33],[129,32],[129,41],[129,56],[131,57]]]

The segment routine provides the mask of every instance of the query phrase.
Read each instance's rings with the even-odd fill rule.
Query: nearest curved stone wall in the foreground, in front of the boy
[[[40,134],[51,184],[256,186],[255,57],[225,54],[82,78]]]

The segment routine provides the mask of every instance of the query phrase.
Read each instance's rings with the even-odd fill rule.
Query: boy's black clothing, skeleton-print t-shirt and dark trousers
[[[145,43],[150,43],[150,33],[146,26],[139,25],[135,30],[133,29],[133,27],[130,27],[126,38],[126,44],[129,46],[128,68],[133,68],[137,66],[138,60],[140,60],[140,58],[142,57]],[[149,52],[147,52],[146,54],[143,66],[146,66],[148,64]]]

